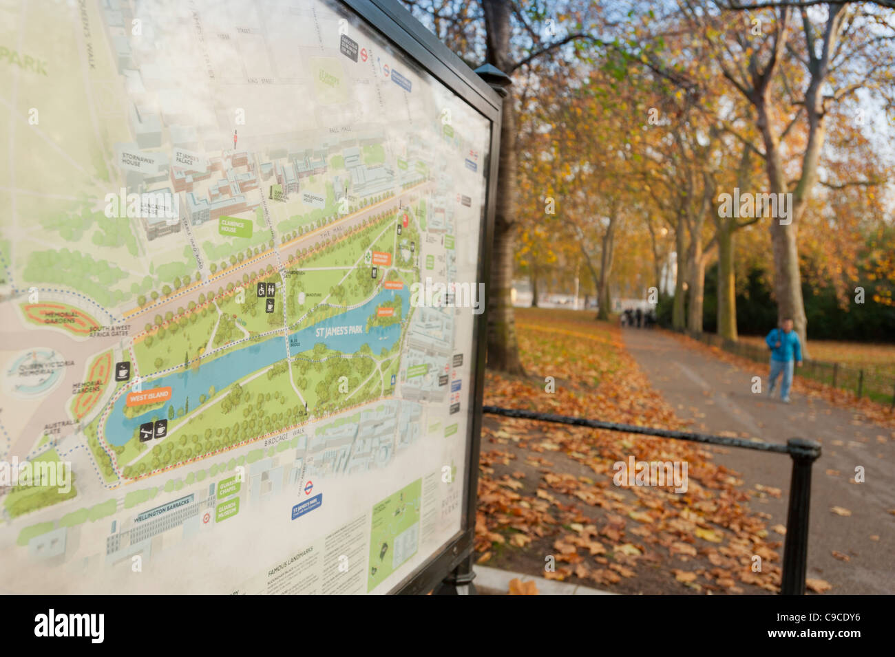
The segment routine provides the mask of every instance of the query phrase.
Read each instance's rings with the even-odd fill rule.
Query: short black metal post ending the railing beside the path
[[[805,595],[808,567],[808,513],[811,510],[811,468],[821,456],[819,442],[803,438],[787,441],[792,457],[786,543],[783,545],[783,581],[780,594]]]

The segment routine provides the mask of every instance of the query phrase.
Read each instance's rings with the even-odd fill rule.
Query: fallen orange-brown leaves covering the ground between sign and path
[[[489,373],[485,403],[669,429],[686,423],[650,387],[614,325],[562,311],[518,321],[531,378]],[[556,392],[544,379],[556,379]],[[613,464],[686,460],[686,493],[620,487]],[[695,443],[489,417],[482,434],[480,563],[624,593],[777,592],[785,531],[750,510],[755,492]],[[760,494],[780,495],[764,486]],[[754,556],[762,569],[754,572]],[[545,570],[549,557],[553,571]]]

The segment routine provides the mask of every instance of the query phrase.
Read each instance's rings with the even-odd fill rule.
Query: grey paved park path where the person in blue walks
[[[734,366],[661,330],[627,328],[622,335],[652,386],[678,417],[694,421],[695,431],[734,432],[767,442],[785,443],[792,437],[820,442],[823,454],[814,463],[812,478],[807,577],[829,582],[831,594],[895,594],[895,432],[807,397],[796,384],[790,404],[753,394],[753,376],[761,376],[766,389],[766,365]],[[769,529],[786,525],[788,456],[715,451],[717,462],[736,470],[746,488],[754,491],[761,484],[782,491],[780,498],[754,496],[750,505],[767,514]],[[865,468],[863,484],[849,483],[857,466]],[[851,515],[837,515],[832,507]],[[782,558],[782,547],[779,553]]]

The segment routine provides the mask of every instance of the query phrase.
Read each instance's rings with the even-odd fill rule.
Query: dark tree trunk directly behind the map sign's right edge
[[[486,59],[501,71],[509,68],[509,0],[482,4],[488,52]],[[498,189],[495,191],[494,246],[491,258],[491,289],[488,296],[488,366],[508,374],[524,375],[516,341],[516,320],[511,298],[513,289],[514,231],[516,220],[516,107],[512,88],[503,102],[500,125]]]

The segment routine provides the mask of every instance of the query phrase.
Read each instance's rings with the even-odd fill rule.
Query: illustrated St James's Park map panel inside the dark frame
[[[395,590],[462,529],[490,121],[335,2],[0,16],[0,590]]]

